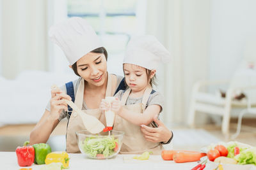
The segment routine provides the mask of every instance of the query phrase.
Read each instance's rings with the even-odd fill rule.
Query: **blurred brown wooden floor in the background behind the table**
[[[230,124],[230,134],[236,132],[236,121],[232,120]],[[236,141],[247,143],[256,146],[256,120],[243,120],[242,131],[236,138]],[[0,151],[15,151],[17,146],[21,146],[24,141],[29,140],[29,134],[35,127],[35,124],[26,125],[6,125],[0,127]],[[250,127],[250,128],[248,128]],[[228,136],[221,134],[221,127],[214,124],[202,125],[196,127],[197,129],[204,129],[221,141],[230,141]],[[62,121],[54,129],[49,139],[54,150],[65,150],[65,134],[67,129],[67,121]],[[189,129],[186,126],[178,125],[172,129]],[[196,148],[197,149],[197,148]]]

